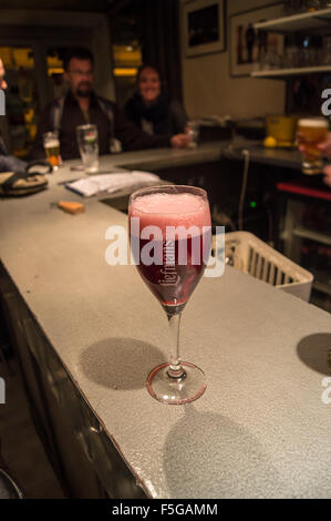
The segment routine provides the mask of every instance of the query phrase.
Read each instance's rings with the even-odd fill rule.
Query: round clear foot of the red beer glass
[[[163,403],[183,405],[199,398],[206,390],[205,374],[199,367],[182,362],[184,374],[180,378],[168,375],[170,364],[155,367],[147,378],[147,390],[153,398]]]

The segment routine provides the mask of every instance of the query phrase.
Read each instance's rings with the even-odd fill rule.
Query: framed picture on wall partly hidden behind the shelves
[[[283,53],[283,37],[281,34],[256,30],[254,23],[279,18],[282,14],[282,3],[261,9],[239,12],[230,17],[230,74],[248,76],[251,71],[259,69],[262,55],[268,54],[277,60]]]

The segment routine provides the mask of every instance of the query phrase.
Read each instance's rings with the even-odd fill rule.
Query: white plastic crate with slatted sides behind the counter
[[[313,276],[248,232],[225,235],[226,263],[308,302]]]

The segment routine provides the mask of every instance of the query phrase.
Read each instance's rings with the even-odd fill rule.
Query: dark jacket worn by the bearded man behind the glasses
[[[101,103],[100,103],[101,101]],[[41,114],[32,159],[44,157],[42,134],[54,129],[54,112],[59,101],[51,102]],[[103,110],[105,108],[106,110]],[[111,114],[111,118],[110,118]],[[170,135],[151,136],[139,131],[118,110],[115,103],[92,94],[90,101],[90,123],[97,126],[100,154],[110,154],[112,137],[121,141],[124,151],[170,146]],[[65,96],[60,124],[60,153],[63,160],[80,157],[76,126],[86,123],[81,108],[69,92]]]

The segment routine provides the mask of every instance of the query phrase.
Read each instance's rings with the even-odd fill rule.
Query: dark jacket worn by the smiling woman
[[[127,101],[125,114],[139,129],[144,127],[145,120],[152,126],[154,135],[184,133],[187,123],[184,108],[178,101],[172,100],[166,92],[162,92],[156,102],[148,106],[136,92]]]

